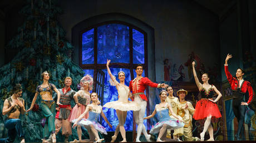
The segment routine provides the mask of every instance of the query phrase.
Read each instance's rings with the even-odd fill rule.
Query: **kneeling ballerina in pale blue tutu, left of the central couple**
[[[100,139],[98,131],[101,134],[107,135],[107,132],[105,130],[105,127],[103,127],[101,124],[99,124],[99,115],[101,114],[102,118],[107,122],[107,124],[112,128],[112,125],[110,124],[109,120],[107,120],[105,114],[102,111],[102,106],[97,105],[98,100],[98,94],[97,93],[91,93],[90,98],[92,100],[92,104],[89,104],[86,106],[85,112],[80,115],[78,119],[72,120],[72,122],[75,122],[73,124],[73,127],[76,127],[77,125],[85,126],[85,128],[88,130],[89,134],[91,132],[96,137],[96,142],[101,142],[104,139]],[[85,119],[84,116],[89,113],[89,118]],[[91,137],[91,135],[90,135]],[[93,138],[95,139],[95,138]],[[90,139],[90,141],[93,141],[93,139]],[[80,142],[83,142],[81,140]]]

